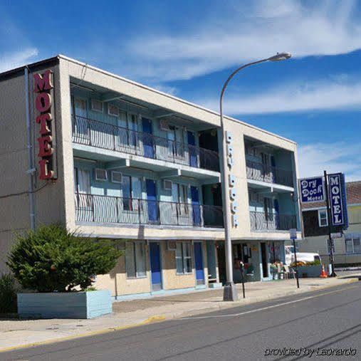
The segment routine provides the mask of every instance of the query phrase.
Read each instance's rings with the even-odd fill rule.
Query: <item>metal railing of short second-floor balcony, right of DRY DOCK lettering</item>
[[[273,214],[263,211],[250,211],[251,231],[288,231],[297,228],[297,221],[291,214]]]

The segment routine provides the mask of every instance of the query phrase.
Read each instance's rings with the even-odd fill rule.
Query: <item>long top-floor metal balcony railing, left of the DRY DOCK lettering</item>
[[[219,172],[219,155],[213,150],[78,115],[73,116],[72,128],[74,143]]]

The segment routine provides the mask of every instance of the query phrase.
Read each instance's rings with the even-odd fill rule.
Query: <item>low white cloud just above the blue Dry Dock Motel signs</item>
[[[315,143],[298,147],[300,177],[344,172],[346,181],[361,180],[361,145],[346,142]]]

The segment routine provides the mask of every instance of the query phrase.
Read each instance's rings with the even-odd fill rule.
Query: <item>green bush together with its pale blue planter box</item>
[[[36,291],[18,293],[20,315],[93,318],[112,312],[110,291],[91,291],[94,275],[108,273],[121,254],[110,241],[76,236],[60,224],[16,239],[6,263],[23,288]]]

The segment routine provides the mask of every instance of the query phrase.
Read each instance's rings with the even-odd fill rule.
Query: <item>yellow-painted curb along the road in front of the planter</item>
[[[86,338],[88,336],[93,336],[93,335],[103,335],[105,333],[113,333],[114,331],[125,330],[127,328],[135,328],[137,326],[147,325],[147,323],[159,322],[159,321],[164,321],[164,320],[165,320],[165,316],[155,315],[150,318],[147,318],[147,320],[144,320],[140,323],[133,323],[132,325],[120,326],[120,327],[115,327],[115,328],[113,328],[113,327],[105,328],[104,330],[90,331],[88,333],[80,333],[78,335],[65,336],[63,338],[52,338],[51,340],[44,340],[44,341],[39,341],[39,342],[26,343],[24,345],[4,347],[4,348],[0,348],[0,353],[6,352],[6,351],[19,350],[21,348],[28,348],[28,347],[40,346],[40,345],[48,345],[48,344],[51,344],[54,342],[73,340],[75,338]]]

